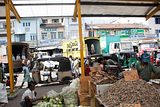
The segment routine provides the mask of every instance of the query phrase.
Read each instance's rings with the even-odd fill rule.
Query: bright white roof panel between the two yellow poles
[[[75,0],[13,0],[21,17],[73,17]]]

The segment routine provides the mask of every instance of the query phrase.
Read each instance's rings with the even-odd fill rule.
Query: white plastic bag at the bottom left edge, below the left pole
[[[0,83],[0,103],[8,103],[6,85]]]

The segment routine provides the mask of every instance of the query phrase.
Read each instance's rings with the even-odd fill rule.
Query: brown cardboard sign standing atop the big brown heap
[[[139,75],[137,70],[124,71],[123,72],[125,81],[136,81],[139,80]]]

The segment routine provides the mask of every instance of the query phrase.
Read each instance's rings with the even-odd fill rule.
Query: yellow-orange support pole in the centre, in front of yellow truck
[[[78,26],[79,26],[79,41],[80,41],[80,57],[81,57],[81,73],[85,76],[84,72],[84,53],[83,53],[83,35],[82,35],[82,18],[81,18],[81,7],[80,1],[76,1],[77,12],[78,12]]]

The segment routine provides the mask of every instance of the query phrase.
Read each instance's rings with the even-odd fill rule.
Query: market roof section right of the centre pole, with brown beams
[[[159,0],[78,0],[82,17],[160,17]],[[77,2],[74,18],[77,16]]]

